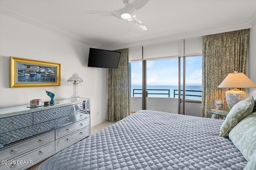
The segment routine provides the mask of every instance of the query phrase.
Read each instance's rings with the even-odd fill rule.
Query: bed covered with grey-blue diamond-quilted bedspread
[[[223,120],[138,111],[43,162],[39,170],[242,170]]]

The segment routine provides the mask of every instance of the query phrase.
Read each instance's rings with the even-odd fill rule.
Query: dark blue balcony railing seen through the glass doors
[[[136,91],[136,90],[142,91],[142,89],[133,89],[133,91],[132,91],[133,97],[134,97],[134,95],[142,95],[142,93],[135,93],[134,91]],[[147,91],[166,91],[167,93],[148,93],[148,95],[168,95],[168,97],[170,97],[170,89],[147,89]],[[176,93],[176,91],[178,92],[178,90],[176,90],[176,89],[173,90],[174,98],[176,95],[178,95],[178,93]],[[180,90],[180,91],[183,91],[183,90]],[[200,92],[202,94],[202,91],[198,91],[198,90],[186,90],[186,92]],[[180,94],[180,95],[183,95],[183,94]],[[186,94],[186,96],[202,97],[202,95],[194,95],[194,94]]]

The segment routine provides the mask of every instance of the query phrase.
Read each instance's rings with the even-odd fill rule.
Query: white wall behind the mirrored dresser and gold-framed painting
[[[91,99],[91,125],[106,119],[106,69],[87,67],[89,45],[61,34],[0,15],[0,108],[29,104],[31,99],[49,101],[72,96],[66,81],[76,72],[84,80],[78,87],[80,97]],[[60,87],[10,88],[10,56],[61,63]]]

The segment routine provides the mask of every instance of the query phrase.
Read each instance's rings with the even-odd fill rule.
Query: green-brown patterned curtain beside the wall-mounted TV
[[[128,49],[118,49],[117,69],[108,69],[108,121],[120,121],[130,115],[130,81]]]

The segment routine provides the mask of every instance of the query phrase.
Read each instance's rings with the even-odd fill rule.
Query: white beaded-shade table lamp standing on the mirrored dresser
[[[78,74],[74,73],[68,79],[68,85],[73,86],[73,96],[70,97],[71,101],[80,101],[80,97],[78,96],[78,85],[83,85],[84,81],[81,79]]]

